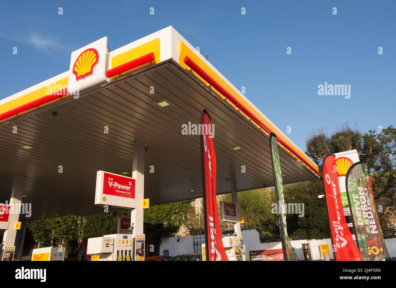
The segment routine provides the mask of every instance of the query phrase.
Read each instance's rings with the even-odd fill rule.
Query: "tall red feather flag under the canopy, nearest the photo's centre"
[[[201,112],[202,186],[204,191],[205,240],[208,261],[228,261],[221,236],[216,199],[216,155],[208,112]]]

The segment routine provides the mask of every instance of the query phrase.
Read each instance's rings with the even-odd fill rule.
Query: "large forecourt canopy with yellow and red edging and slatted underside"
[[[105,80],[74,81],[84,83],[78,96],[71,92],[70,80],[78,78],[72,54],[67,72],[0,100],[0,202],[10,199],[13,175],[25,175],[30,220],[103,213],[93,203],[96,171],[131,176],[133,142],[146,147],[144,196],[151,205],[202,197],[200,136],[182,133],[182,125],[200,123],[202,108],[214,124],[218,194],[230,192],[227,179],[236,179],[238,191],[274,186],[271,132],[284,184],[320,177],[316,164],[172,27],[102,54],[91,73]]]

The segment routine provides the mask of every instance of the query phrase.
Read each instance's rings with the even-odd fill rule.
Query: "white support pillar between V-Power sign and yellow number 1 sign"
[[[136,179],[136,208],[131,212],[131,223],[134,234],[143,234],[143,199],[145,185],[145,145],[141,142],[133,143],[132,178]]]

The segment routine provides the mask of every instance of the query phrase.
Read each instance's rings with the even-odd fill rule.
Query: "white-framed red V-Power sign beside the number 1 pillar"
[[[96,205],[135,208],[136,179],[105,171],[96,174]]]

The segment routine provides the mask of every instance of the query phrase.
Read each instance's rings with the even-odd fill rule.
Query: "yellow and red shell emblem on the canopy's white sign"
[[[73,74],[76,75],[76,81],[84,79],[93,74],[93,68],[99,62],[99,53],[96,49],[88,48],[82,52],[73,65]]]

